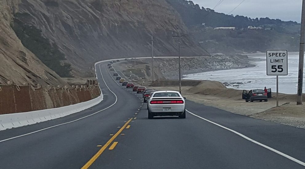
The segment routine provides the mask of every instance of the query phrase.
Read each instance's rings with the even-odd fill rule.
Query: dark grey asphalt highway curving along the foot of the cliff
[[[190,101],[201,118],[148,119],[142,95],[119,86],[106,65],[102,75],[97,67],[104,101],[92,110],[0,131],[0,168],[305,168],[305,130]]]

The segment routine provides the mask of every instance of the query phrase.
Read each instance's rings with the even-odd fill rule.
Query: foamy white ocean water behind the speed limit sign
[[[194,73],[184,75],[183,79],[194,80],[210,80],[220,81],[222,83],[233,83],[228,88],[235,89],[263,89],[265,86],[271,88],[272,92],[276,92],[276,76],[266,75],[266,54],[249,54],[250,62],[255,64],[255,67],[243,69],[218,70],[203,73]],[[298,66],[299,53],[288,53],[288,75],[279,76],[279,92],[286,94],[296,94],[298,87]],[[238,86],[233,86],[238,85]],[[305,84],[304,84],[305,85]],[[305,86],[303,87],[303,93]]]

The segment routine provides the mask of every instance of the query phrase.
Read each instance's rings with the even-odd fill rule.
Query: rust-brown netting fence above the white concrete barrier
[[[93,80],[72,88],[0,85],[0,115],[63,107],[89,101],[100,95],[99,84]]]

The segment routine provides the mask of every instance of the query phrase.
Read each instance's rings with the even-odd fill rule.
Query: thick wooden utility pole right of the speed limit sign
[[[300,53],[299,53],[299,77],[298,77],[298,97],[297,105],[302,104],[303,95],[303,69],[304,69],[304,43],[305,43],[305,0],[302,2],[302,17],[301,17],[301,38],[300,38]]]

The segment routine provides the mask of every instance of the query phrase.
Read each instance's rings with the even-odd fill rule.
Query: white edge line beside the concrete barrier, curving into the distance
[[[110,105],[109,107],[104,108],[103,110],[97,111],[97,112],[95,112],[95,113],[93,113],[93,114],[91,114],[91,115],[87,115],[87,116],[85,116],[85,117],[78,118],[78,119],[73,120],[73,121],[70,121],[70,122],[65,122],[65,123],[62,123],[62,124],[57,124],[57,125],[55,125],[55,126],[51,126],[51,127],[47,127],[47,128],[41,129],[41,130],[37,130],[37,131],[31,132],[31,133],[26,133],[26,134],[22,134],[22,135],[20,135],[20,136],[7,138],[7,139],[4,139],[4,140],[1,140],[0,143],[1,143],[1,142],[4,142],[4,141],[8,141],[8,140],[15,139],[15,138],[18,138],[18,137],[23,137],[23,136],[26,136],[26,135],[30,135],[30,134],[33,134],[33,133],[38,133],[38,132],[40,132],[40,131],[47,130],[47,129],[50,129],[50,128],[53,128],[53,127],[62,126],[62,125],[64,125],[64,124],[69,124],[69,123],[72,123],[72,122],[76,122],[76,121],[79,121],[79,120],[81,120],[81,119],[83,119],[83,118],[87,118],[87,117],[89,117],[89,116],[95,115],[95,114],[97,114],[97,113],[99,113],[99,112],[101,112],[101,111],[104,111],[104,110],[106,110],[106,109],[112,107],[113,105],[115,105],[115,104],[117,103],[117,95],[114,94],[114,92],[113,92],[112,90],[110,90],[110,88],[109,88],[108,85],[106,84],[105,79],[104,79],[104,76],[103,76],[103,73],[102,73],[102,71],[101,71],[101,64],[99,64],[99,67],[100,67],[100,72],[101,72],[101,75],[102,75],[102,79],[103,79],[103,81],[104,81],[106,87],[107,87],[107,88],[109,89],[109,91],[112,92],[113,95],[116,97],[116,100],[115,100],[115,102],[114,102],[112,105]]]

